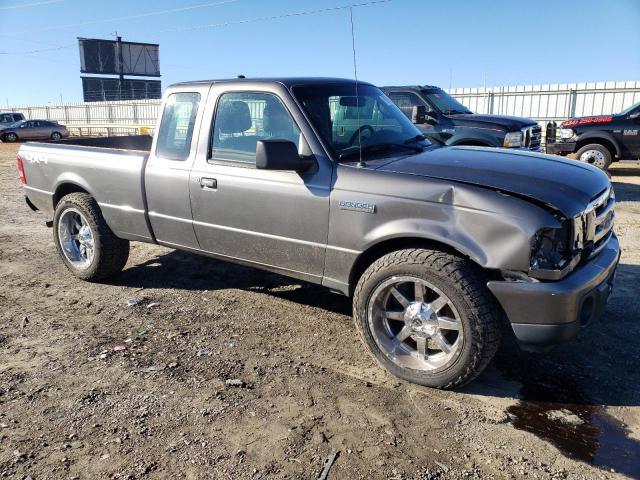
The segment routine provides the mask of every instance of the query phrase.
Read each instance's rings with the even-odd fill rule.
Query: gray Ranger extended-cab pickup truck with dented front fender
[[[353,297],[382,366],[433,387],[478,375],[503,325],[529,349],[573,337],[602,316],[620,255],[605,173],[432,145],[351,80],[173,85],[153,139],[28,143],[18,168],[76,276],[117,274],[133,240],[321,284]]]

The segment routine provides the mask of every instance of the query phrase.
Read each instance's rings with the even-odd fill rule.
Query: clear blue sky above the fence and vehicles
[[[160,44],[163,87],[239,73],[352,76],[349,10],[233,22],[366,0],[227,1],[0,0],[0,106],[80,101],[76,37],[116,30]],[[359,77],[378,85],[482,86],[485,71],[487,86],[640,80],[640,0],[392,0],[354,19]]]

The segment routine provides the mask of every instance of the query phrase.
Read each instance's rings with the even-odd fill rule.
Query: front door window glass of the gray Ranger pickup
[[[233,92],[220,96],[211,136],[211,160],[255,164],[258,140],[290,140],[300,129],[282,101],[263,92]]]

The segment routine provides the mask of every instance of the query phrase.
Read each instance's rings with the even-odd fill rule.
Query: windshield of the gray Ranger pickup
[[[332,153],[341,159],[411,154],[429,143],[387,96],[371,85],[302,85],[293,93]]]

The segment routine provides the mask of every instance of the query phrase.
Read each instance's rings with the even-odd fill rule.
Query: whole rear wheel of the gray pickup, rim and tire
[[[67,268],[83,280],[110,277],[129,257],[129,241],[114,235],[98,203],[86,193],[62,197],[53,216],[53,237]]]

